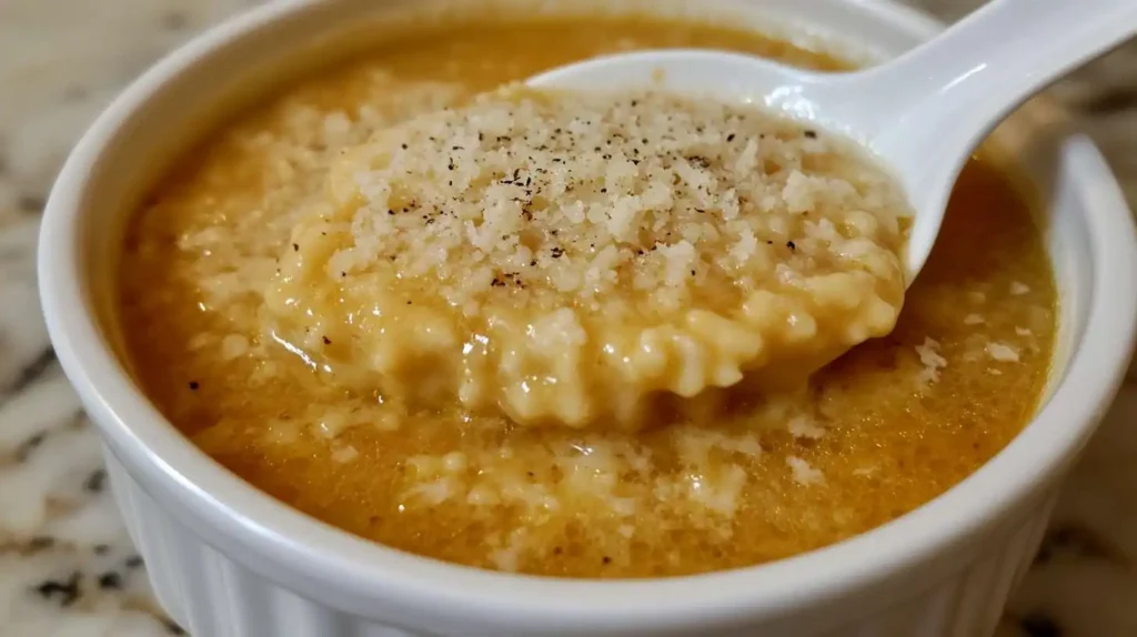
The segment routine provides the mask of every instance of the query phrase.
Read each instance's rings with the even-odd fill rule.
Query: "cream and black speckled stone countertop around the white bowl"
[[[910,0],[955,18],[982,0]],[[1072,0],[1067,0],[1072,1]],[[38,219],[72,143],[157,57],[254,0],[0,0],[0,635],[182,635],[48,344]],[[1137,44],[1055,87],[1137,204]],[[1137,207],[1137,206],[1135,206]],[[1137,635],[1137,372],[1057,506],[1001,636]]]

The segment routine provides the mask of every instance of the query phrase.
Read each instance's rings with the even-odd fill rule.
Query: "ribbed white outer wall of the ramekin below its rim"
[[[198,637],[425,637],[426,632],[352,615],[298,595],[252,572],[197,534],[150,497],[105,453],[110,485],[126,528],[147,562],[159,603]],[[890,606],[824,632],[803,634],[758,622],[706,637],[978,637],[990,635],[1014,585],[1038,551],[1055,493],[1009,530],[993,531],[957,550],[958,570],[912,594],[896,590]],[[907,588],[907,587],[906,587]],[[471,628],[462,637],[506,637]],[[518,636],[520,637],[520,636]]]

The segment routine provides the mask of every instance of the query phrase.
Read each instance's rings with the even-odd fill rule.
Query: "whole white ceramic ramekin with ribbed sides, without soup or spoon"
[[[173,618],[199,637],[990,632],[1037,548],[1061,478],[1114,394],[1137,318],[1129,211],[1088,141],[1039,150],[1045,109],[1020,114],[999,134],[1011,152],[1057,159],[1034,162],[1048,193],[1062,299],[1049,397],[1006,450],[958,486],[847,542],[769,565],[659,580],[462,568],[365,542],[272,500],[158,413],[106,327],[125,216],[223,104],[315,59],[330,35],[351,31],[362,41],[372,18],[412,3],[423,5],[281,2],[210,31],[107,109],[51,194],[39,253],[51,338],[102,433],[115,496]],[[686,5],[728,6],[738,20],[836,37],[869,58],[896,55],[940,28],[883,0]],[[339,37],[350,39],[331,40]]]

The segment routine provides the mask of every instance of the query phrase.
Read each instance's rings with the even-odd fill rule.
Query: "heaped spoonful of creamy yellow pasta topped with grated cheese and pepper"
[[[904,293],[903,193],[830,137],[659,93],[423,115],[333,167],[265,330],[346,386],[520,425],[634,427],[646,396],[762,367],[804,382]]]

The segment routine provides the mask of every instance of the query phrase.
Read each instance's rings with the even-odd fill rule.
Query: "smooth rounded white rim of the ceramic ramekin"
[[[889,28],[933,35],[941,25],[894,0],[844,0]],[[640,628],[709,626],[780,615],[869,589],[973,537],[1038,493],[1080,450],[1115,393],[1137,325],[1137,238],[1120,188],[1093,144],[1067,158],[1095,215],[1088,321],[1065,378],[999,454],[916,510],[844,542],[767,564],[647,580],[571,580],[443,563],[365,540],[273,500],[221,468],[171,425],[135,386],[89,311],[83,193],[94,167],[147,100],[227,42],[307,2],[255,8],[194,37],[148,70],[97,119],[66,161],[48,201],[38,251],[41,302],[57,355],[113,453],[143,488],[176,510],[209,544],[272,579],[367,617],[387,612],[509,618],[525,626]],[[302,578],[304,581],[291,581]],[[915,593],[915,592],[913,592]],[[387,617],[387,615],[384,615]]]

